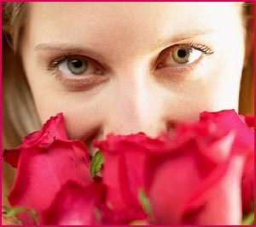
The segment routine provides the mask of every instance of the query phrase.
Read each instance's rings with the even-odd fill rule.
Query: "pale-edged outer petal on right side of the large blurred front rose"
[[[242,156],[230,157],[207,179],[203,179],[200,186],[205,190],[195,190],[196,196],[192,193],[184,206],[184,224],[241,224],[240,179],[243,162]]]

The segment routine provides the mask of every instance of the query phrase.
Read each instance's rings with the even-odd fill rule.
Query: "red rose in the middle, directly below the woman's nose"
[[[146,218],[137,195],[138,190],[145,187],[143,168],[147,157],[146,145],[151,145],[150,142],[143,133],[128,136],[109,134],[107,140],[95,142],[104,156],[102,179],[107,185],[107,208],[102,210],[104,224],[129,224]]]

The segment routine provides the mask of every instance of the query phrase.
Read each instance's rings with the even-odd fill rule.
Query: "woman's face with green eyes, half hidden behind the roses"
[[[29,3],[22,58],[40,120],[71,139],[148,135],[236,109],[240,3]]]

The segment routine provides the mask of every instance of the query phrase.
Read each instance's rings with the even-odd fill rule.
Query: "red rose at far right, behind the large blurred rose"
[[[230,128],[235,132],[232,150],[243,152],[246,156],[241,179],[242,211],[245,214],[250,213],[254,191],[254,117],[237,117],[235,111],[204,112],[201,114],[201,121],[212,121],[219,128]]]

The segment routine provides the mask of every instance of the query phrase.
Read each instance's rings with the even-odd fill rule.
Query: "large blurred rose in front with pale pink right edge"
[[[240,224],[243,158],[230,156],[232,134],[213,139],[193,133],[201,139],[190,138],[172,152],[150,156],[146,177],[156,222]],[[205,144],[207,139],[212,141]]]

